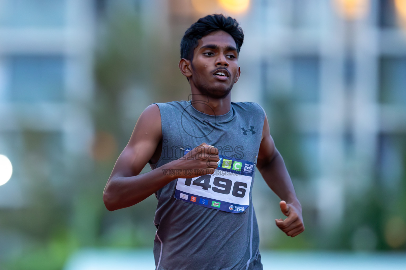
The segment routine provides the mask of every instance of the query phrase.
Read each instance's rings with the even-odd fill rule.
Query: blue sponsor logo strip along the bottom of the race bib
[[[229,213],[242,213],[248,208],[248,205],[240,205],[240,204],[233,204],[230,202],[224,202],[224,201],[220,201],[220,200],[212,200],[211,198],[204,198],[204,197],[193,195],[190,193],[180,192],[179,190],[175,191],[175,198],[177,198],[178,200],[181,200],[183,202],[197,204],[199,206],[222,210],[222,211],[229,212]],[[190,199],[188,200],[185,198],[190,198]]]

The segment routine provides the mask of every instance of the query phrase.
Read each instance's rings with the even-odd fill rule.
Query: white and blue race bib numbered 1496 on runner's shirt
[[[242,159],[219,157],[214,174],[178,178],[175,197],[203,207],[242,213],[249,206],[254,164]]]

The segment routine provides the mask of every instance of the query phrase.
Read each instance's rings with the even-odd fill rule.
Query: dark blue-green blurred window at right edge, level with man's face
[[[406,57],[380,59],[380,102],[406,104]]]

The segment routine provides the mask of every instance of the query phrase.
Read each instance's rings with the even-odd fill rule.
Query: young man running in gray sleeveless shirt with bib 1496
[[[190,101],[148,106],[106,184],[103,199],[111,211],[153,193],[158,198],[156,269],[262,269],[251,200],[255,167],[282,200],[287,218],[276,225],[292,237],[304,230],[263,109],[231,102],[243,40],[238,22],[223,15],[186,30],[179,69],[190,83]],[[152,170],[139,174],[147,163]]]

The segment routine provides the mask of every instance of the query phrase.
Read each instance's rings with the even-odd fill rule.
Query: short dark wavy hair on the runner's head
[[[192,60],[194,48],[197,47],[199,40],[217,30],[229,33],[235,40],[237,53],[240,53],[241,45],[244,42],[244,33],[238,21],[231,17],[226,18],[222,14],[213,14],[200,18],[186,30],[180,43],[180,57]]]

